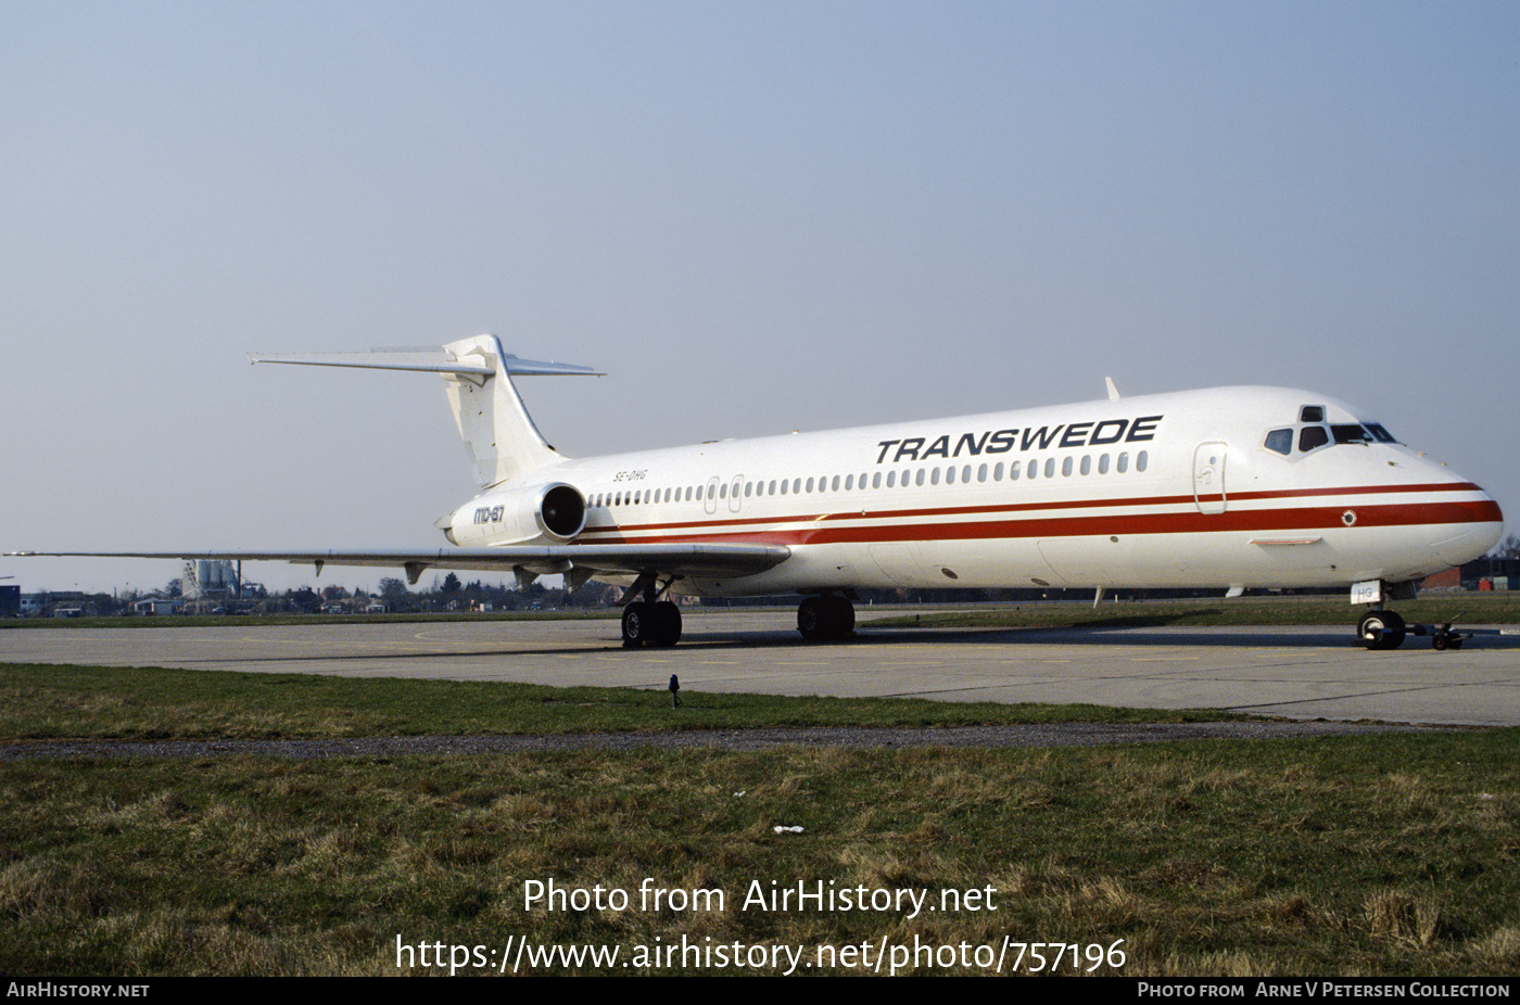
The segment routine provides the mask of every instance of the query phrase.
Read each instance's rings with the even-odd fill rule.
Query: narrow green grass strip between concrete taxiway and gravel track
[[[0,740],[293,739],[470,733],[953,727],[999,722],[1198,722],[1224,712],[780,698],[631,687],[345,678],[143,667],[0,664]]]

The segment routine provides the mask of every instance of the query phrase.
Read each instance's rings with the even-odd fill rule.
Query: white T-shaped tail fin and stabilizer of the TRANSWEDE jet
[[[365,369],[421,369],[441,374],[459,435],[474,464],[476,482],[491,488],[521,474],[559,464],[564,458],[549,445],[512,376],[600,377],[590,366],[544,363],[502,351],[494,334],[448,342],[441,350],[374,350],[369,353],[306,353],[298,356],[249,354],[251,363],[301,366],[360,366]]]

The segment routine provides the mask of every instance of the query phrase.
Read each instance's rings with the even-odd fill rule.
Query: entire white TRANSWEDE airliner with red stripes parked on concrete
[[[628,587],[626,646],[679,640],[669,594],[800,593],[803,636],[838,639],[860,587],[1350,587],[1370,605],[1357,636],[1391,649],[1406,625],[1383,602],[1503,531],[1482,488],[1309,391],[1120,398],[1110,382],[1082,404],[576,461],[512,377],[594,371],[520,360],[491,334],[249,360],[441,374],[480,485],[438,522],[453,547],[112,555],[398,567],[410,582],[594,575]]]

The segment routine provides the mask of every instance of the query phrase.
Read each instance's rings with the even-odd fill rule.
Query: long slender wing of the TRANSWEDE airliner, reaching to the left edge
[[[175,558],[182,561],[287,561],[296,566],[371,566],[403,569],[410,582],[427,569],[568,573],[579,585],[596,573],[660,576],[746,576],[781,564],[784,544],[534,544],[372,552],[6,552],[53,558]]]

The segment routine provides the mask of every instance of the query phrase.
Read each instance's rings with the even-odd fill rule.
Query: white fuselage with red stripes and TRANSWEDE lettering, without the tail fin
[[[587,500],[578,544],[792,549],[672,584],[696,594],[1401,582],[1499,540],[1480,488],[1366,429],[1324,395],[1218,388],[565,461],[534,480]],[[491,518],[520,490],[461,506],[453,540],[521,541]]]

